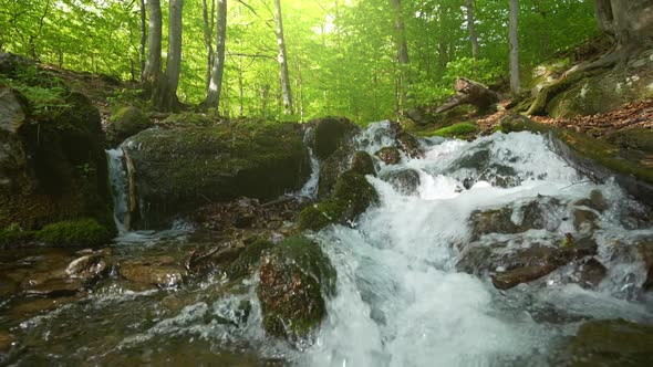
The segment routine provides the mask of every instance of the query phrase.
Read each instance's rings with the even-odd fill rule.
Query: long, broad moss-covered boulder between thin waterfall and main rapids
[[[240,123],[147,129],[123,149],[139,208],[136,228],[165,228],[173,218],[238,197],[271,200],[298,190],[310,175],[301,126]],[[265,185],[261,185],[265,182]]]

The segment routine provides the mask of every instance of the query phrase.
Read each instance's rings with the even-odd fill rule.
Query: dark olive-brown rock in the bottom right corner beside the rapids
[[[624,319],[582,324],[568,345],[571,366],[649,366],[653,326]]]

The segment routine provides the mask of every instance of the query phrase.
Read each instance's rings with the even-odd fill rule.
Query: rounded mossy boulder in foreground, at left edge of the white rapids
[[[263,256],[259,273],[266,333],[291,342],[309,337],[326,317],[325,297],[335,293],[335,270],[318,243],[284,240]]]

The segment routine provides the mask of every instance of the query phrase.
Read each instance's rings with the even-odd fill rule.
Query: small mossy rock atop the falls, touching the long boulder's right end
[[[359,126],[343,117],[325,117],[310,122],[313,125],[310,145],[320,160],[329,158],[339,147],[360,132]]]

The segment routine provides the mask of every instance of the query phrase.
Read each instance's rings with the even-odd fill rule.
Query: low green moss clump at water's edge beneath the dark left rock
[[[95,219],[79,219],[48,224],[37,232],[35,238],[51,245],[92,247],[106,243],[112,234]]]

